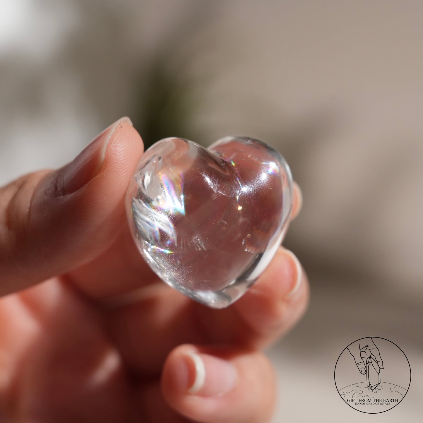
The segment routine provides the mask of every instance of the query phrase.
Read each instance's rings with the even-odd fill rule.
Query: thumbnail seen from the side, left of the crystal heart
[[[66,194],[75,192],[96,176],[103,167],[107,144],[117,128],[123,124],[132,126],[129,118],[124,117],[110,125],[88,144],[78,156],[66,165],[63,171],[62,191]]]

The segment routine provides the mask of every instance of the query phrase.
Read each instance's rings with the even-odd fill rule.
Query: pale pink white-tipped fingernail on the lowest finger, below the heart
[[[221,358],[195,352],[184,353],[188,377],[186,390],[198,396],[222,396],[236,384],[235,366]]]

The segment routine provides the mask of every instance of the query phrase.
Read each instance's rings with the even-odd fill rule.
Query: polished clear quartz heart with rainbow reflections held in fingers
[[[224,308],[254,283],[285,236],[291,171],[254,138],[225,137],[207,149],[165,138],[143,154],[126,208],[151,269],[188,297]]]

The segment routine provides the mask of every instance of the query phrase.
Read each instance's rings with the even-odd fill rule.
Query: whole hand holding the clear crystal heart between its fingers
[[[69,165],[0,189],[0,420],[270,418],[275,375],[260,349],[305,310],[305,273],[281,247],[224,310],[159,281],[124,209],[142,153],[123,118]],[[296,186],[293,217],[300,203]]]

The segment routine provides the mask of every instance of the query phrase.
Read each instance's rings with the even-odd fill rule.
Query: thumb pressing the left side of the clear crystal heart
[[[0,188],[0,295],[65,273],[113,242],[142,152],[131,121],[121,118],[63,168]]]

